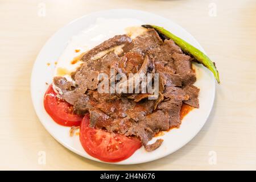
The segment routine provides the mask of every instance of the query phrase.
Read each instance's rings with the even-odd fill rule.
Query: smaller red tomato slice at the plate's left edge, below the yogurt
[[[52,84],[44,94],[44,109],[51,118],[63,126],[80,126],[82,117],[73,113],[73,106],[61,100],[52,88]]]

